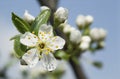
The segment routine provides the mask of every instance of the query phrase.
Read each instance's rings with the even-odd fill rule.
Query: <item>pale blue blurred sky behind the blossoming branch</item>
[[[79,14],[92,15],[94,23],[91,28],[98,27],[107,30],[106,47],[102,51],[91,55],[84,55],[92,60],[100,60],[102,69],[82,63],[88,79],[119,79],[120,78],[120,0],[60,0],[59,6],[69,9],[68,22],[75,26],[75,19]],[[11,36],[18,34],[11,21],[11,12],[23,17],[25,10],[37,16],[40,6],[36,0],[0,0],[0,68],[8,61],[8,53],[12,50]],[[17,72],[19,66],[14,66],[9,72]],[[13,74],[9,74],[9,76]],[[16,75],[16,78],[19,75]],[[69,66],[63,79],[74,79]]]

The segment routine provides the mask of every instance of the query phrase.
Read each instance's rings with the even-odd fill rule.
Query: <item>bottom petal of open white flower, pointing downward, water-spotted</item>
[[[52,53],[49,53],[47,55],[43,53],[41,63],[43,67],[48,71],[55,70],[57,66],[57,60],[55,59]]]

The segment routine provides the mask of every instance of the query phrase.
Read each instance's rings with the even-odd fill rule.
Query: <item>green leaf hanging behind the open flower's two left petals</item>
[[[26,46],[20,43],[20,37],[14,40],[14,50],[18,58],[21,58],[26,51]]]

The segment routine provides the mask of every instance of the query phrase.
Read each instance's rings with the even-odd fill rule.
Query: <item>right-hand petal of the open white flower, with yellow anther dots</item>
[[[65,40],[59,36],[53,37],[49,42],[47,45],[52,50],[62,49],[65,45]]]

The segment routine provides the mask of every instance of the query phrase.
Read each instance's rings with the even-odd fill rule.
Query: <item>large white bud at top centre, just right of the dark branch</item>
[[[68,9],[60,7],[55,12],[55,19],[59,22],[64,22],[68,18]]]

